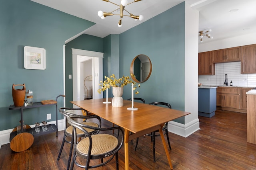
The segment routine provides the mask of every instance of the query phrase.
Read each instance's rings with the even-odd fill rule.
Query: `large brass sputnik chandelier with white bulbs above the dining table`
[[[103,0],[103,1],[105,1],[105,2],[110,2],[109,0]],[[116,8],[116,9],[113,10],[112,12],[103,12],[103,11],[99,11],[99,12],[98,12],[98,16],[99,16],[101,19],[105,19],[107,16],[115,16],[115,15],[116,15],[116,16],[120,16],[120,20],[118,21],[118,24],[117,24],[118,27],[122,27],[122,18],[123,18],[123,16],[131,17],[131,18],[133,18],[135,21],[138,21],[138,20],[142,21],[142,20],[144,19],[144,17],[143,17],[142,15],[140,15],[140,16],[134,16],[133,14],[131,14],[130,12],[128,12],[127,10],[124,9],[126,6],[128,6],[128,5],[130,5],[130,4],[134,3],[134,2],[139,2],[139,1],[141,1],[141,0],[134,0],[133,2],[128,3],[127,0],[121,0],[121,4],[120,4],[120,5],[115,4],[115,3],[113,3],[113,2],[110,2],[110,3],[112,3],[112,4],[116,5],[116,6],[119,6],[119,8]],[[120,13],[119,13],[119,14],[113,14],[113,12],[119,12],[119,10],[120,10]],[[124,14],[124,11],[126,11],[129,15],[125,15],[125,14]]]

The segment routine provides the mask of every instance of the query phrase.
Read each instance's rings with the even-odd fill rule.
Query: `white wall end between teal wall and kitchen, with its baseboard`
[[[190,8],[185,2],[185,111],[191,114],[185,116],[184,137],[194,133],[199,127],[198,119],[198,23],[199,12]],[[172,129],[172,128],[170,128]]]

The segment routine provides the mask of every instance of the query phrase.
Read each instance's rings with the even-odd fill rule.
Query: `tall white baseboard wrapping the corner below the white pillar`
[[[198,118],[190,121],[185,125],[175,121],[168,122],[168,131],[182,137],[188,137],[199,129],[200,127]]]

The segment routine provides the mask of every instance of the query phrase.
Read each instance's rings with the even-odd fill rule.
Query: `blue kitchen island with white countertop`
[[[212,117],[216,111],[216,89],[215,86],[198,87],[198,115]]]

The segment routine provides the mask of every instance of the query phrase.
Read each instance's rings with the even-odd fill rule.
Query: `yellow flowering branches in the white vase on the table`
[[[134,74],[131,74],[131,76],[134,76]],[[98,93],[104,92],[107,88],[112,87],[124,87],[127,84],[134,84],[133,90],[136,90],[137,87],[135,87],[136,82],[133,82],[129,76],[122,76],[121,78],[116,78],[115,74],[112,74],[110,77],[105,76],[104,81],[100,81],[100,89],[98,89]],[[140,87],[140,84],[138,84],[138,87]],[[138,94],[139,92],[136,90],[135,94]]]

